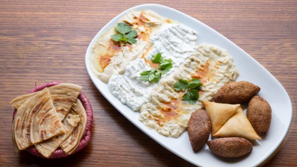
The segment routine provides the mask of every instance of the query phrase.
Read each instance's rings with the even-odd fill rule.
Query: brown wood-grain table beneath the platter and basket
[[[285,87],[293,118],[282,148],[264,166],[297,165],[297,1],[1,1],[0,166],[194,166],[147,137],[118,113],[87,75],[84,56],[97,32],[124,10],[165,5],[216,29]],[[92,142],[66,158],[13,154],[11,99],[51,81],[83,86],[94,111]]]

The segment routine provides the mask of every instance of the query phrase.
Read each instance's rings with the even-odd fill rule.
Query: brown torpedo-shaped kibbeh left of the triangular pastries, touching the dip
[[[189,120],[188,134],[194,152],[200,150],[211,133],[211,119],[205,110],[195,111]]]

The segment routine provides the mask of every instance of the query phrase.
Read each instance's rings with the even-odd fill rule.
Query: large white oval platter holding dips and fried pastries
[[[90,53],[97,39],[127,12],[132,10],[150,9],[161,16],[176,20],[198,32],[198,44],[204,42],[217,45],[226,49],[233,57],[233,61],[239,69],[240,77],[237,81],[249,81],[261,88],[259,95],[269,102],[272,108],[272,123],[270,131],[263,140],[253,142],[253,151],[243,157],[225,159],[211,153],[205,145],[199,152],[192,151],[187,131],[179,138],[169,138],[160,135],[153,129],[147,128],[138,120],[139,112],[131,110],[123,105],[109,91],[107,84],[100,81],[90,69]],[[268,57],[269,58],[269,57]],[[257,166],[269,158],[284,140],[292,119],[292,104],[284,87],[263,66],[253,59],[244,50],[236,46],[230,40],[219,34],[202,22],[172,8],[157,4],[144,4],[130,8],[108,22],[94,37],[88,46],[85,55],[85,65],[91,80],[102,95],[129,121],[143,131],[147,136],[160,145],[180,156],[181,158],[198,166]]]

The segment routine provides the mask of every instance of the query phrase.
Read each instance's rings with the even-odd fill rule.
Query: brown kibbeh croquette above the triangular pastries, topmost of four
[[[260,87],[247,82],[230,82],[223,85],[215,95],[216,103],[243,104],[260,91]]]

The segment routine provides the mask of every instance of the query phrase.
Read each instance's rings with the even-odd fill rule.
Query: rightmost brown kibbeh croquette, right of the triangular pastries
[[[253,96],[248,104],[247,118],[259,135],[266,135],[272,118],[269,103],[259,95]]]

